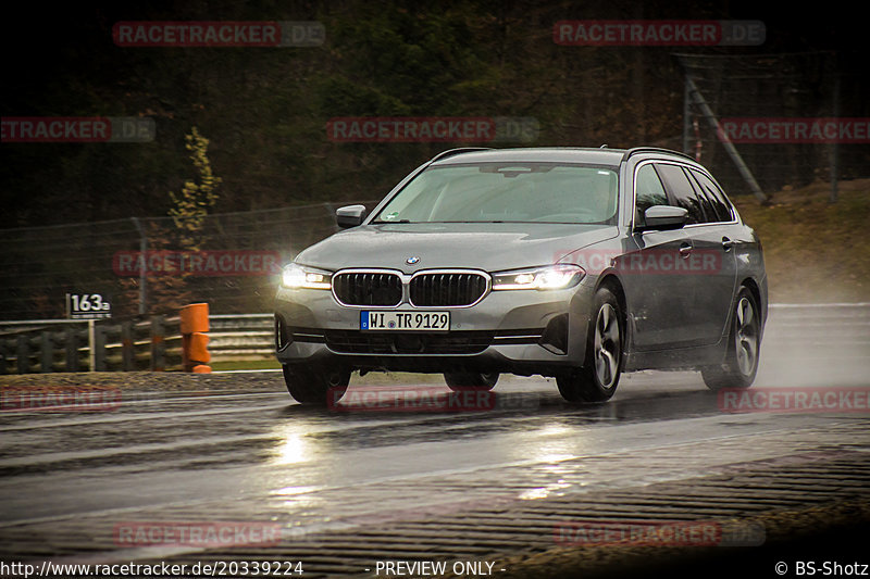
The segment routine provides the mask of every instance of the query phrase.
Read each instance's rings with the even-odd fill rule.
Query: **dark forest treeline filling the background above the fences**
[[[209,159],[223,179],[215,212],[376,199],[451,147],[332,142],[325,125],[336,116],[531,116],[540,124],[536,146],[679,148],[683,74],[674,52],[833,51],[848,78],[841,114],[870,116],[866,22],[834,4],[223,0],[46,7],[4,9],[2,115],[145,115],[156,121],[157,138],[145,144],[2,143],[2,228],[166,215],[170,191],[196,176],[184,148],[194,126],[210,139]],[[679,49],[552,41],[554,23],[581,18],[760,20],[767,41]],[[112,40],[121,21],[262,20],[319,21],[326,41],[314,48],[121,48]],[[818,78],[818,71],[803,73],[808,84]],[[867,159],[867,149],[848,149],[847,173],[855,173],[856,154]]]

